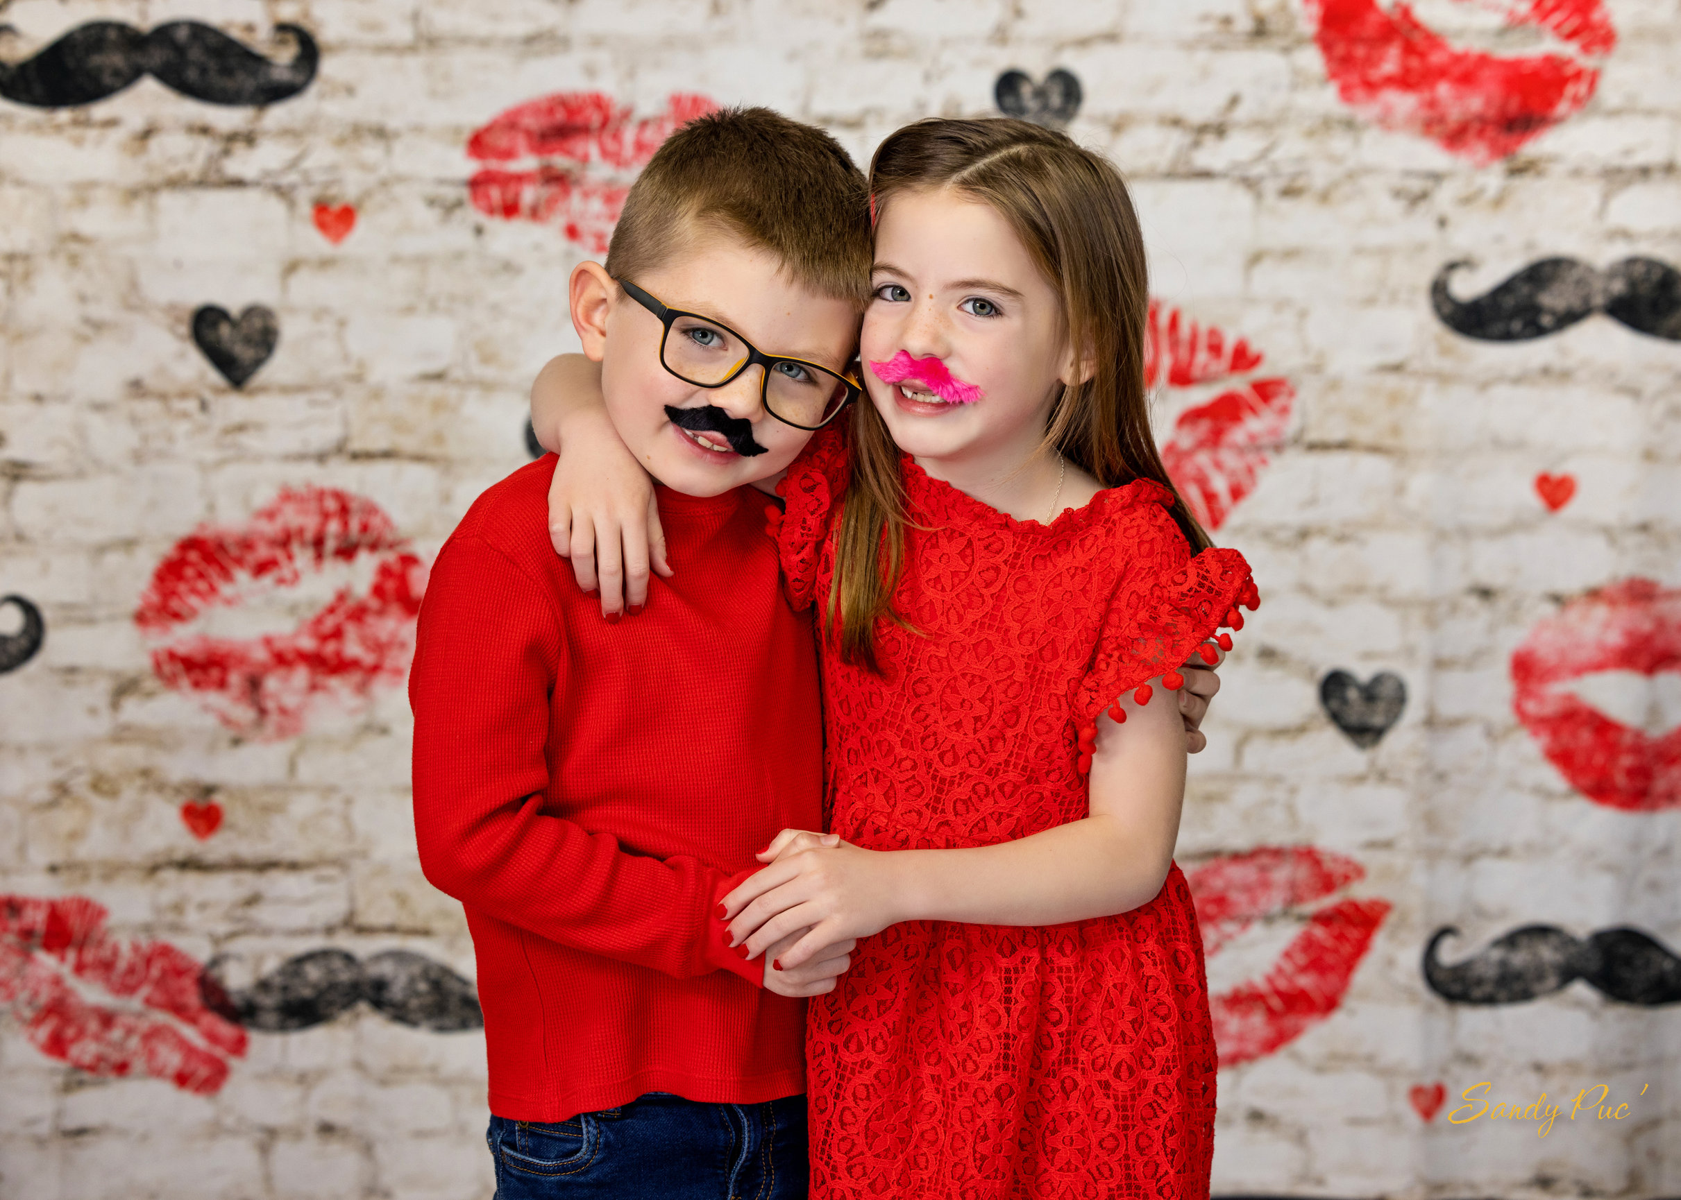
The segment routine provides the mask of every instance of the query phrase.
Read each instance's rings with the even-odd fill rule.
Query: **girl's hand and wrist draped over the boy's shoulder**
[[[548,487],[548,536],[572,560],[585,592],[600,588],[602,617],[647,603],[649,568],[671,576],[654,482],[602,403],[600,366],[583,355],[548,361],[531,385],[531,429],[560,455]]]

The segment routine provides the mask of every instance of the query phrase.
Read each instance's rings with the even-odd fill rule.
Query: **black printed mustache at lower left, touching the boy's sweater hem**
[[[366,961],[343,950],[311,950],[287,958],[249,988],[227,987],[215,966],[212,960],[198,978],[205,1007],[264,1034],[321,1025],[363,1000],[415,1029],[439,1034],[484,1029],[472,982],[408,950],[387,950]]]

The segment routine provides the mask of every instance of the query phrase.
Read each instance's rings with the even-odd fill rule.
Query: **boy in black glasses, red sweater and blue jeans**
[[[810,126],[741,109],[672,134],[570,303],[681,573],[602,620],[550,548],[550,459],[432,568],[415,830],[472,931],[499,1200],[805,1195],[804,997],[852,946],[778,971],[716,919],[778,830],[822,827],[812,629],[743,484],[856,397],[867,213]]]

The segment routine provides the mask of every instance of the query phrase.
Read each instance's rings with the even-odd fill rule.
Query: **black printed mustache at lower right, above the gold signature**
[[[1523,1003],[1584,980],[1612,1000],[1646,1007],[1681,1002],[1681,958],[1639,929],[1600,929],[1584,939],[1550,924],[1526,924],[1501,934],[1452,966],[1436,958],[1452,926],[1431,934],[1424,980],[1454,1003]]]

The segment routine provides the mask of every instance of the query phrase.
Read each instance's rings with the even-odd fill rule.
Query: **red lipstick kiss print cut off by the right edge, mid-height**
[[[1547,760],[1594,803],[1624,812],[1676,808],[1681,726],[1644,728],[1657,724],[1651,721],[1657,689],[1681,682],[1664,679],[1676,672],[1681,590],[1622,580],[1530,629],[1511,655],[1511,706]],[[1632,706],[1624,703],[1631,697]]]

